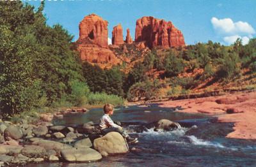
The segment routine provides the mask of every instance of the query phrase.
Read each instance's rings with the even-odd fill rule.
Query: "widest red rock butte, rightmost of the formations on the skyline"
[[[164,48],[185,45],[184,37],[172,22],[154,17],[142,17],[136,22],[135,41],[145,41],[147,47]]]

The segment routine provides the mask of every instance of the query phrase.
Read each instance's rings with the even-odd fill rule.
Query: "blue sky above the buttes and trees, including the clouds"
[[[36,8],[40,1],[24,1]],[[83,0],[45,1],[47,24],[61,24],[79,37],[79,22],[95,13],[108,21],[109,38],[115,25],[122,24],[134,40],[136,20],[153,16],[172,21],[184,34],[186,44],[212,40],[230,45],[237,38],[247,43],[256,37],[255,0]]]

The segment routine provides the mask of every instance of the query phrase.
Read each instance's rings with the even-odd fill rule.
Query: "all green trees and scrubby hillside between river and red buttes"
[[[158,99],[255,89],[256,39],[248,45],[197,43],[180,48],[112,48],[123,63],[110,69],[81,62],[72,36],[50,27],[40,7],[0,1],[0,112]],[[111,48],[111,47],[109,47]],[[26,114],[23,114],[26,115]]]

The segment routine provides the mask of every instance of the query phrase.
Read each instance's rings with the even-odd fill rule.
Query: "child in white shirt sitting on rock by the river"
[[[120,134],[128,141],[128,143],[138,143],[138,138],[131,138],[129,134],[123,129],[123,127],[118,126],[113,122],[113,120],[109,117],[114,113],[114,106],[111,104],[106,104],[103,107],[104,115],[100,119],[100,129],[103,134],[107,134],[109,132],[115,131]]]

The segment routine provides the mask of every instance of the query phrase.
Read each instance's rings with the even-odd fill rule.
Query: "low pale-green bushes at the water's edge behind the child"
[[[90,105],[104,105],[106,103],[111,103],[113,105],[123,105],[124,99],[116,95],[109,95],[104,92],[96,92],[94,94],[89,94],[88,103]]]

